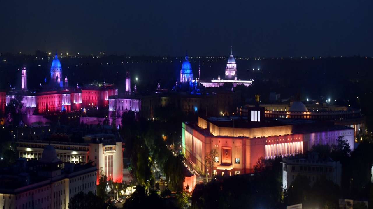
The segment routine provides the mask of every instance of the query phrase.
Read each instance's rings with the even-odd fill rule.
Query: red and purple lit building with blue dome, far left
[[[61,62],[56,53],[50,68],[50,85],[45,86],[42,91],[31,92],[27,90],[26,67],[23,67],[21,89],[13,88],[6,95],[0,93],[0,113],[5,112],[5,106],[9,105],[10,100],[19,99],[23,104],[23,123],[46,123],[48,120],[43,116],[51,113],[82,111],[84,107],[108,108],[109,96],[118,93],[115,86],[105,83],[70,88],[67,76],[63,79],[62,73]]]

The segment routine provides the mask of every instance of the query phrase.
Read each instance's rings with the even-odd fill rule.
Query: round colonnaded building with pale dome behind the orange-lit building
[[[239,107],[238,114],[247,116],[247,108],[253,105]],[[330,121],[335,125],[344,125],[354,128],[355,136],[364,134],[365,117],[360,109],[347,106],[323,104],[303,104],[300,101],[283,104],[261,104],[265,109],[266,118],[278,119],[305,119],[314,121]],[[286,121],[286,120],[285,120]]]

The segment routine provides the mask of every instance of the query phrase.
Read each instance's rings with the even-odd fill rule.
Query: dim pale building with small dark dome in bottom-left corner
[[[19,158],[0,177],[0,207],[6,209],[68,209],[75,194],[96,194],[96,167],[65,163],[62,168],[51,145],[45,146],[39,160]]]

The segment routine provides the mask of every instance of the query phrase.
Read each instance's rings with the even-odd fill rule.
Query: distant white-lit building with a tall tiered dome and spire
[[[200,81],[200,84],[207,88],[223,86],[224,83],[232,83],[233,87],[237,85],[250,86],[253,83],[252,80],[241,80],[237,78],[237,64],[235,58],[232,55],[232,51],[225,67],[225,79],[220,79],[220,76],[218,76],[217,80],[213,79],[211,81]]]

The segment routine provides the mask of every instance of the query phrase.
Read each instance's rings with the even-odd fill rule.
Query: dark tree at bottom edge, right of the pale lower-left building
[[[88,194],[79,192],[71,198],[68,207],[69,209],[103,209],[106,208],[106,204],[101,197],[96,196],[92,192],[88,192]]]

